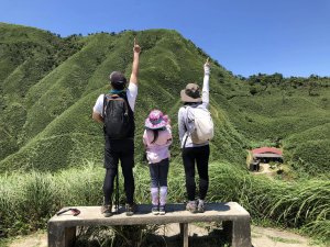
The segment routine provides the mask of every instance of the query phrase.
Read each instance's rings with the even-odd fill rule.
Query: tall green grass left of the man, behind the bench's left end
[[[25,234],[46,226],[47,220],[64,205],[100,204],[102,169],[22,172],[0,177],[0,234]]]

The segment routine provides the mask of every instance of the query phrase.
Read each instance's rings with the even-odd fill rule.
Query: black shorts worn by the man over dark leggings
[[[134,167],[134,139],[110,139],[106,138],[105,168],[118,168],[119,160],[125,168]]]

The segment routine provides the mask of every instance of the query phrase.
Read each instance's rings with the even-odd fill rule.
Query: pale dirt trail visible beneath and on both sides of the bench
[[[173,237],[179,234],[178,224],[168,224],[164,227],[161,227],[157,232],[160,236]],[[195,243],[198,237],[208,236],[209,232],[201,226],[189,225],[189,243]],[[318,245],[311,245],[310,239],[298,234],[268,228],[252,226],[251,229],[252,245],[253,247],[320,247]],[[202,244],[200,247],[209,246],[207,239],[204,239],[206,244]],[[178,243],[175,243],[174,246],[178,246]],[[172,244],[167,245],[173,246]],[[179,245],[180,246],[180,245]],[[21,236],[15,238],[9,247],[47,247],[47,234],[44,232],[38,232],[28,236]]]

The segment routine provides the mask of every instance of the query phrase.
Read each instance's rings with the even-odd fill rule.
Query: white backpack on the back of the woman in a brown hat
[[[209,110],[187,106],[187,113],[188,121],[194,122],[193,130],[189,130],[193,143],[202,144],[211,141],[215,136],[215,125]]]

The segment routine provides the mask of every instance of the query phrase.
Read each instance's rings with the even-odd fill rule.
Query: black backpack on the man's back
[[[125,93],[105,94],[103,100],[105,134],[112,139],[134,136],[134,116]]]

